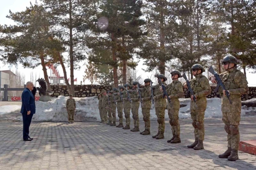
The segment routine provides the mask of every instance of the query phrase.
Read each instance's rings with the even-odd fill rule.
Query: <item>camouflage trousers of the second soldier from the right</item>
[[[199,140],[205,139],[205,125],[203,124],[205,119],[205,110],[191,110],[192,125],[195,128],[195,138]]]

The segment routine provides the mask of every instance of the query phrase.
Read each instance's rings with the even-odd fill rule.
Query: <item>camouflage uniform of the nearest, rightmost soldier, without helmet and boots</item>
[[[223,89],[220,88],[219,92],[222,95],[221,98],[221,111],[223,115],[223,122],[225,123],[225,131],[227,132],[227,146],[228,148],[238,150],[240,134],[239,123],[242,107],[241,95],[248,90],[248,82],[240,70],[231,68],[224,73],[219,74],[223,85],[226,90],[230,92],[230,100],[223,95]]]

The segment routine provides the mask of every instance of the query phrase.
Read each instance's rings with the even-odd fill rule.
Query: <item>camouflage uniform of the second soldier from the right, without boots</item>
[[[205,110],[207,106],[206,96],[211,93],[211,86],[209,80],[202,74],[197,74],[194,79],[190,80],[190,85],[194,95],[196,96],[196,105],[194,100],[190,102],[192,125],[195,128],[195,142],[205,139]],[[189,148],[189,146],[188,146]],[[193,147],[194,148],[194,147]]]

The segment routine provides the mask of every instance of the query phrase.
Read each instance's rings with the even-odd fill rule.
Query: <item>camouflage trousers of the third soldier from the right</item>
[[[168,109],[169,123],[173,135],[180,135],[179,109]]]

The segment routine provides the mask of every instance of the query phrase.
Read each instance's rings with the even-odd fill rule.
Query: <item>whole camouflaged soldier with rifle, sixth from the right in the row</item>
[[[130,131],[132,132],[139,132],[140,131],[140,120],[139,120],[139,107],[140,107],[140,102],[139,102],[139,94],[138,94],[138,86],[140,83],[138,81],[133,82],[133,90],[129,91],[130,92],[130,97],[132,100],[131,107],[132,107],[132,114],[133,114],[133,123],[134,123],[134,128],[131,129]]]

